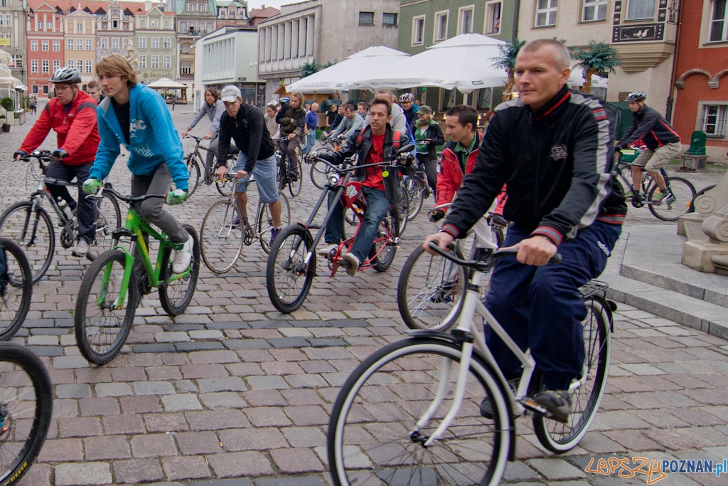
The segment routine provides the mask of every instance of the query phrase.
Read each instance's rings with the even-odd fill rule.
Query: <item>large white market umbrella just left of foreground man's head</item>
[[[505,42],[480,34],[462,34],[428,47],[426,51],[394,66],[373,71],[361,84],[378,89],[415,86],[457,88],[471,93],[486,87],[502,86],[505,70],[495,68],[492,58]]]

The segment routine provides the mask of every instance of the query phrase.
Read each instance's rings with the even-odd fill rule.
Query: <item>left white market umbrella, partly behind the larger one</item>
[[[358,82],[368,77],[371,71],[377,69],[386,70],[388,66],[401,63],[407,59],[409,54],[390,47],[373,46],[361,50],[356,54],[336,63],[333,66],[322,69],[311,76],[291,83],[285,87],[288,93],[293,91],[346,91],[349,87],[356,88]]]

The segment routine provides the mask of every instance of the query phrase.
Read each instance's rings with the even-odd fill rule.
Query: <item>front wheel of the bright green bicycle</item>
[[[74,313],[74,331],[79,350],[90,363],[100,365],[114,359],[132,329],[138,299],[141,298],[134,273],[124,298],[126,307],[119,310],[110,307],[121,289],[125,266],[126,254],[123,251],[107,251],[94,260],[81,281]],[[109,281],[103,286],[103,276],[107,270]],[[101,293],[104,297],[100,304]],[[91,317],[87,315],[90,312],[93,313]],[[108,332],[111,329],[115,329],[116,334]]]

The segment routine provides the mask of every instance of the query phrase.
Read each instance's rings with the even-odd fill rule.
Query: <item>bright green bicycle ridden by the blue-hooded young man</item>
[[[184,312],[194,295],[199,275],[199,238],[189,224],[184,229],[194,239],[192,262],[183,273],[172,272],[174,243],[157,232],[139,216],[136,205],[151,197],[165,195],[124,196],[106,189],[129,203],[124,229],[113,233],[111,250],[100,254],[84,275],[76,301],[74,327],[82,355],[93,364],[106,364],[122,349],[132,328],[136,308],[143,294],[159,288],[159,300],[169,315]],[[157,264],[149,256],[149,237],[159,240]],[[129,247],[119,246],[121,238]],[[137,261],[139,259],[140,261]]]

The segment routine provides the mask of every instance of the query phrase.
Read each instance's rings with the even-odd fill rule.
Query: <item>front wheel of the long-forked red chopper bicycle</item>
[[[311,234],[301,225],[291,224],[278,234],[271,247],[266,264],[266,288],[273,306],[284,314],[301,307],[311,290],[316,275],[316,252],[312,245]],[[309,251],[311,258],[305,264]]]

